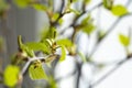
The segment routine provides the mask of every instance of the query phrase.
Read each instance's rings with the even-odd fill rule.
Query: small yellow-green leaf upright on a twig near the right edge
[[[129,46],[130,38],[123,34],[119,34],[119,41],[123,46]]]

